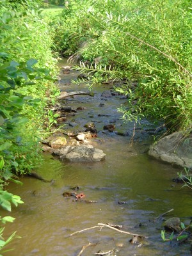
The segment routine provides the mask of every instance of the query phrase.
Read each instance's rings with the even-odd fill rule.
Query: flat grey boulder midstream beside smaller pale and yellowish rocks
[[[104,159],[106,154],[92,145],[67,146],[56,150],[54,154],[60,156],[61,160],[71,162],[98,162]]]

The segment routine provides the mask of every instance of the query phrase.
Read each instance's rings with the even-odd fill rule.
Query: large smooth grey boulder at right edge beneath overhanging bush
[[[173,132],[150,146],[148,154],[166,163],[191,168],[192,134]]]

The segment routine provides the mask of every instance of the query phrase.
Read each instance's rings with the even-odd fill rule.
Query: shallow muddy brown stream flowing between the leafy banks
[[[66,60],[60,61],[59,65],[67,65]],[[76,77],[76,70],[61,74],[61,91],[87,91],[83,84],[70,84],[70,79]],[[6,237],[17,230],[21,238],[10,243],[7,248],[14,250],[4,253],[5,256],[79,256],[83,246],[89,243],[92,245],[84,248],[81,255],[95,255],[99,250],[113,250],[113,253],[106,254],[110,256],[190,255],[188,243],[178,246],[163,242],[163,220],[154,221],[173,208],[174,211],[163,219],[175,216],[189,224],[192,216],[191,191],[172,182],[181,170],[147,155],[153,142],[150,132],[145,131],[152,130],[147,121],[137,126],[131,143],[134,125],[125,124],[116,110],[125,104],[126,99],[116,95],[102,98],[100,95],[104,90],[109,90],[109,84],[93,88],[94,97],[78,95],[62,102],[73,109],[86,108],[69,113],[63,129],[84,131],[84,124],[93,122],[98,133],[91,143],[104,151],[106,159],[97,163],[68,163],[44,153],[45,161],[35,172],[45,179],[54,179],[54,184],[31,177],[22,178],[22,186],[10,184],[8,190],[19,195],[25,204],[13,207],[10,215],[16,219],[6,224]],[[106,124],[115,124],[115,131],[127,136],[103,130]],[[78,193],[84,193],[87,200],[97,203],[86,204],[83,200],[62,195],[75,186],[79,186]],[[122,225],[122,230],[148,238],[138,244],[130,243],[132,236],[106,227],[70,236],[97,223]]]

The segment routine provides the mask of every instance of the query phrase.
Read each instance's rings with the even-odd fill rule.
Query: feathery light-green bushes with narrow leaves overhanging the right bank
[[[64,8],[58,47],[74,60],[100,57],[93,84],[127,80],[116,89],[129,95],[128,110],[120,109],[125,120],[145,116],[163,119],[170,131],[191,129],[190,1],[84,2],[70,1]],[[92,69],[81,70],[93,75]],[[133,88],[132,81],[138,86]]]

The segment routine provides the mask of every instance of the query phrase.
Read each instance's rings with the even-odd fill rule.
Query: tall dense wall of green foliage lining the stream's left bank
[[[56,60],[49,27],[34,7],[40,1],[0,3],[1,178],[29,172],[40,161],[49,95],[56,94]],[[48,69],[49,68],[49,69]],[[55,97],[52,97],[55,102]],[[18,182],[17,180],[15,182]]]

